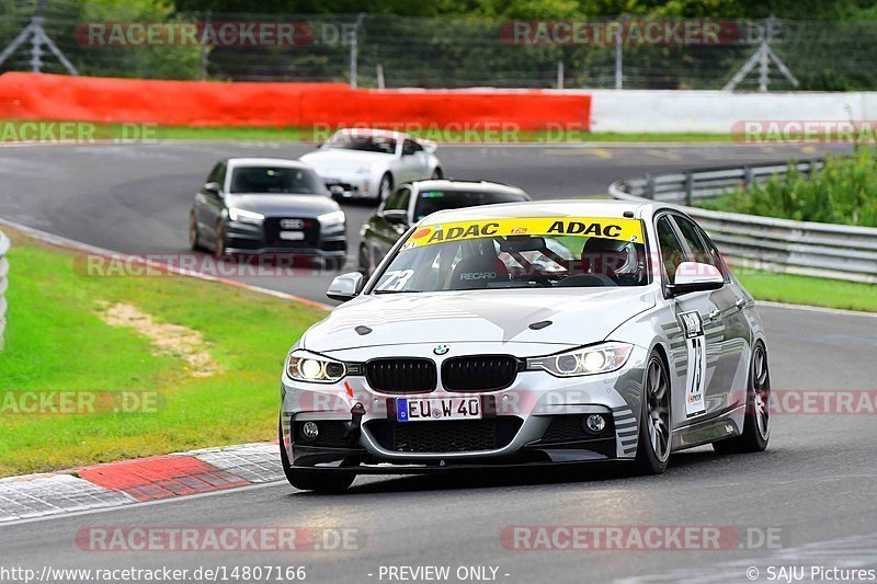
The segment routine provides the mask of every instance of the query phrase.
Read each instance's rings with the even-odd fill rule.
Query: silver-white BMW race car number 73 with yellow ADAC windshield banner
[[[758,451],[771,433],[752,296],[660,204],[558,201],[434,213],[292,348],[289,482],[360,473]]]

